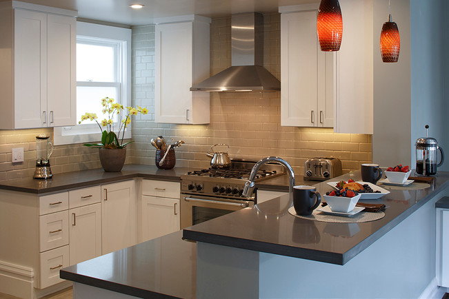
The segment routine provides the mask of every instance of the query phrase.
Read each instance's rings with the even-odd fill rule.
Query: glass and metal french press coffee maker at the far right
[[[433,176],[437,174],[437,167],[443,165],[444,152],[437,146],[437,139],[428,137],[429,125],[426,125],[426,138],[419,138],[415,144],[417,150],[417,174]],[[441,154],[441,161],[437,164],[437,149]]]

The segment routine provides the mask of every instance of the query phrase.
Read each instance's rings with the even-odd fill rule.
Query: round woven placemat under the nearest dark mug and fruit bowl
[[[336,216],[336,215],[330,215],[325,214],[323,212],[318,212],[316,209],[312,212],[312,215],[310,216],[301,216],[297,215],[295,212],[295,207],[290,207],[288,209],[288,212],[292,214],[295,217],[308,219],[308,220],[315,220],[315,221],[321,221],[321,222],[332,222],[332,223],[362,223],[362,222],[370,222],[374,220],[379,220],[385,216],[385,213],[383,212],[359,212],[359,214],[355,214],[355,216],[352,217],[346,217],[346,216]]]

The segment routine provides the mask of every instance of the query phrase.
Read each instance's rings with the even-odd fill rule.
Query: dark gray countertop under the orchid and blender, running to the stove
[[[181,174],[190,172],[192,168],[174,167],[173,169],[158,169],[154,165],[125,165],[121,172],[105,172],[103,168],[88,169],[78,172],[55,174],[48,180],[35,178],[19,178],[0,181],[0,189],[46,194],[67,189],[89,187],[93,185],[114,183],[132,178],[151,178],[161,181],[179,181]]]

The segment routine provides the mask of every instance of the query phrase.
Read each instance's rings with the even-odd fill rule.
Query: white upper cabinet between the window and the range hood
[[[189,17],[179,23],[155,22],[156,123],[210,122],[210,94],[190,91],[194,83],[210,76],[210,19]]]

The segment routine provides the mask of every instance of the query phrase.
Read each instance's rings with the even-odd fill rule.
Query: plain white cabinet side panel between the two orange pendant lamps
[[[372,1],[340,0],[339,3],[343,16],[343,39],[337,52],[334,131],[372,134],[374,118]]]

